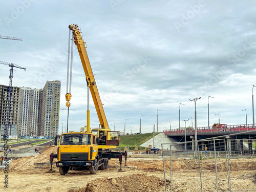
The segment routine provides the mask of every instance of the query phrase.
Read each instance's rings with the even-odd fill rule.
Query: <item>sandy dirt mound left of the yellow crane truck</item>
[[[9,170],[30,170],[34,168],[47,168],[50,167],[50,154],[57,153],[56,146],[46,146],[42,153],[37,156],[21,157],[14,160],[9,165]],[[41,165],[38,167],[38,164]]]

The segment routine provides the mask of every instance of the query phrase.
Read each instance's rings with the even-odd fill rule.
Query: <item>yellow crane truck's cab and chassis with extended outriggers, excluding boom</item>
[[[112,137],[110,141],[117,141],[114,140],[112,133],[106,132],[106,136]],[[104,170],[108,168],[109,159],[119,158],[119,170],[121,170],[122,156],[125,157],[126,165],[127,153],[112,152],[109,148],[105,148],[107,145],[99,145],[99,143],[100,138],[93,133],[62,133],[58,143],[57,154],[50,155],[50,164],[52,165],[54,158],[58,159],[56,166],[59,168],[60,175],[67,174],[70,168],[72,170],[89,169],[91,174],[96,174],[98,169]]]

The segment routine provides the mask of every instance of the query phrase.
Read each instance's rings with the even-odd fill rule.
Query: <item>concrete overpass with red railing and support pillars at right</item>
[[[164,130],[163,133],[176,140],[177,142],[195,141],[195,128]],[[238,151],[253,151],[252,142],[256,142],[256,127],[253,124],[226,125],[223,127],[205,126],[197,127],[197,140],[202,140],[199,145],[200,150],[204,151],[207,147],[212,148],[212,141],[207,141],[208,138],[225,138],[226,144],[230,150]],[[244,146],[244,140],[248,140],[248,147]],[[187,144],[187,150],[194,151],[194,143]]]

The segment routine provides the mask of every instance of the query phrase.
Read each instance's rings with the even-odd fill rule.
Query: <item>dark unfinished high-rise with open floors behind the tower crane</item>
[[[0,85],[0,128],[3,136],[7,129],[9,86]],[[8,135],[16,135],[18,125],[19,88],[11,88],[10,118]]]

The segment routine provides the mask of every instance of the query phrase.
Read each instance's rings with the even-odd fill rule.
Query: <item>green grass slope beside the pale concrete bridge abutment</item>
[[[155,136],[159,133],[155,133]],[[119,147],[135,147],[153,138],[153,133],[120,136]]]

